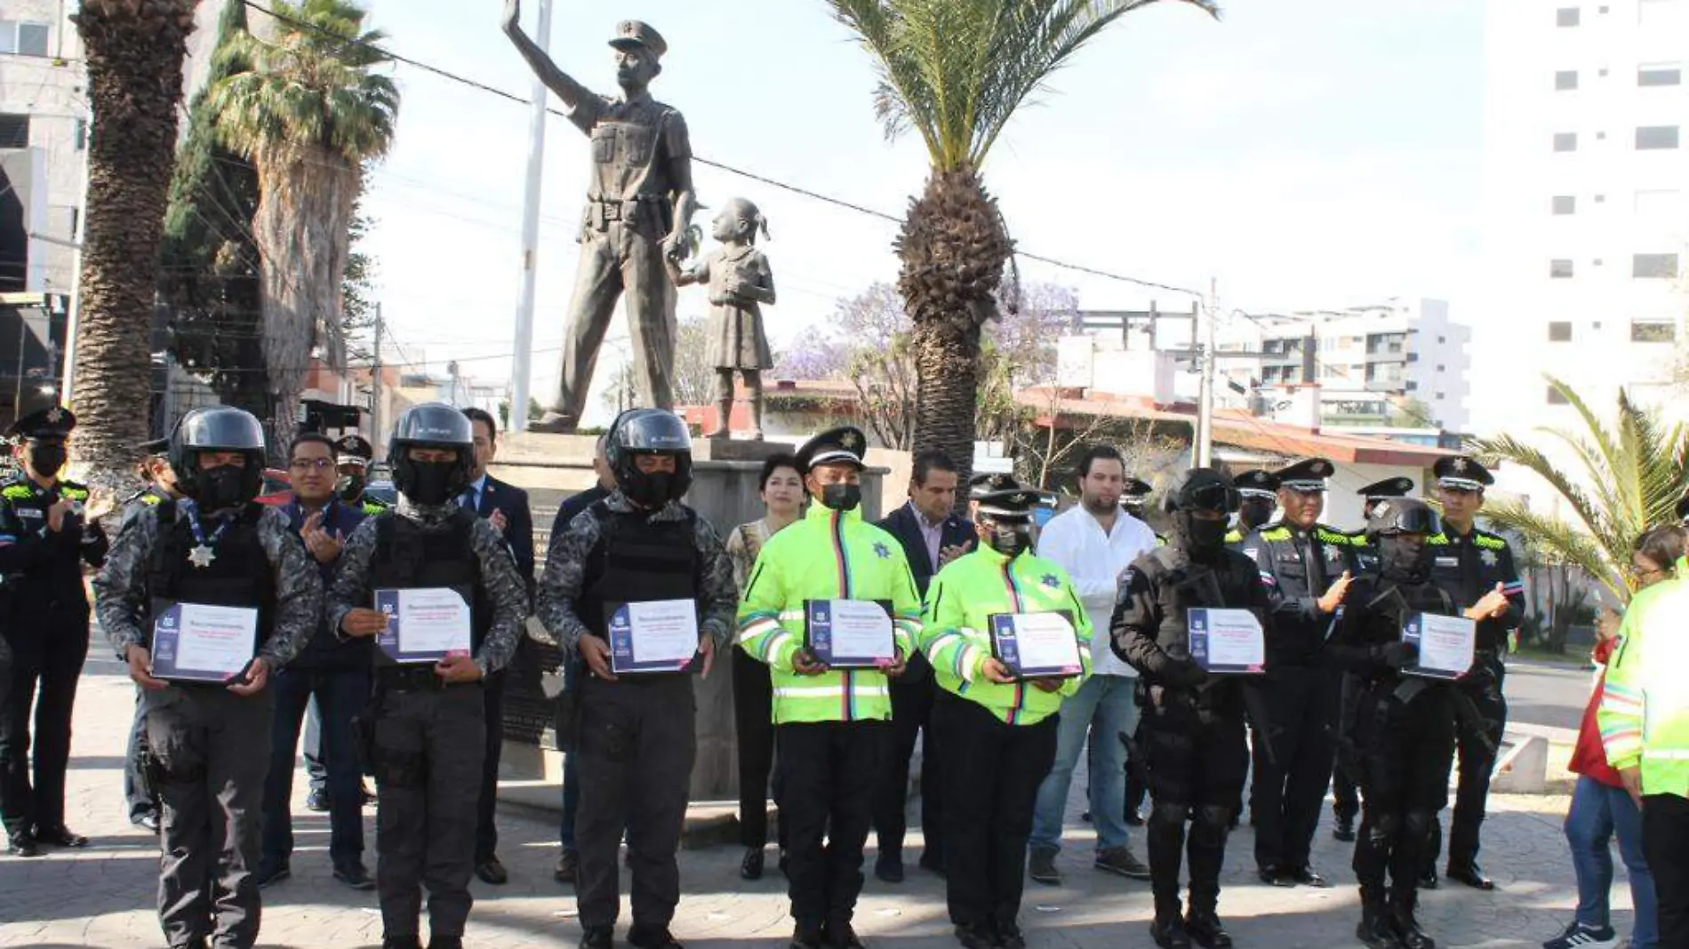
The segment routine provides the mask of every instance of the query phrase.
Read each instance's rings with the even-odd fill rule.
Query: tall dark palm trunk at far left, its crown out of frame
[[[147,437],[152,284],[176,164],[176,106],[194,0],[83,0],[93,135],[76,326],[76,454],[101,478]]]

